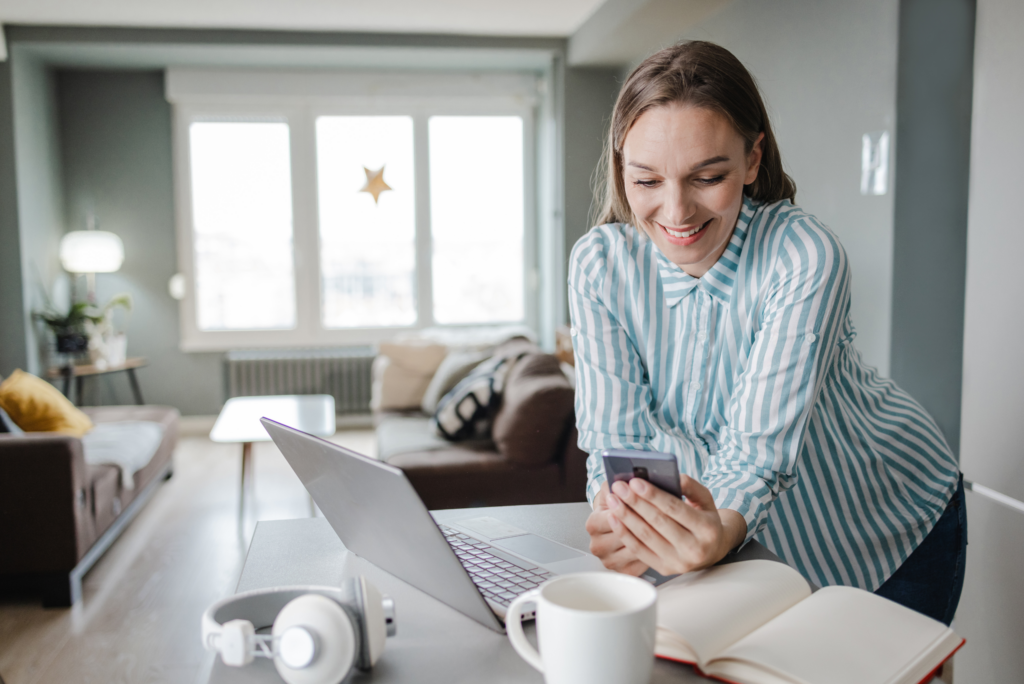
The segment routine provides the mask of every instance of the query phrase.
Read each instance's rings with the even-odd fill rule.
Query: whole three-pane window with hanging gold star
[[[440,75],[384,96],[351,79],[329,84],[344,96],[296,94],[282,77],[284,95],[189,94],[204,78],[168,77],[184,349],[536,326],[536,77],[504,94],[502,78],[481,93]]]

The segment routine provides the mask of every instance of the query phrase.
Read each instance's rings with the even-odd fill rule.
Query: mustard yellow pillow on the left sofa
[[[26,432],[63,432],[81,437],[92,429],[89,417],[56,387],[22,370],[0,383],[0,408]]]

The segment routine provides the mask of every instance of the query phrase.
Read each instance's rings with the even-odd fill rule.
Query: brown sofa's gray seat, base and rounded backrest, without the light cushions
[[[421,412],[378,412],[379,458],[401,468],[429,509],[586,501],[571,384],[551,354],[510,372],[493,439],[450,442]]]

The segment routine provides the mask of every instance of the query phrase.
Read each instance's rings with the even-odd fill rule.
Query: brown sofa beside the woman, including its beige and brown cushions
[[[522,338],[419,345],[382,345],[374,364],[373,409],[378,458],[404,471],[427,508],[586,501],[587,455],[577,446],[570,368]],[[423,405],[421,398],[426,394],[423,400],[429,403],[431,391],[436,395],[446,389],[443,383],[440,390],[431,387],[438,384],[445,359],[468,355],[471,365],[474,353],[476,359],[511,354],[515,362],[489,433],[450,441],[437,433],[433,407]],[[465,360],[457,358],[454,365]],[[420,405],[402,405],[410,403]]]

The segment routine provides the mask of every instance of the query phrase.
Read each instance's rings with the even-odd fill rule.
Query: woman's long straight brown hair
[[[745,140],[748,153],[758,135],[764,133],[758,177],[743,187],[743,193],[761,202],[796,199],[797,185],[782,170],[782,157],[754,77],[724,47],[690,41],[647,57],[623,84],[605,142],[603,188],[597,188],[602,196],[601,209],[596,224],[636,224],[626,201],[623,143],[640,115],[653,106],[672,103],[718,112]]]

